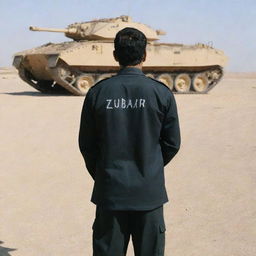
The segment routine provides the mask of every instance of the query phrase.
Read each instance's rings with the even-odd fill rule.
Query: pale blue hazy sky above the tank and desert
[[[10,66],[15,52],[68,40],[30,25],[65,28],[120,15],[165,30],[163,42],[213,42],[229,57],[227,70],[256,71],[256,0],[0,0],[0,66]]]

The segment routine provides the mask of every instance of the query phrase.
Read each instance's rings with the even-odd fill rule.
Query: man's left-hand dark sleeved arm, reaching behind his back
[[[79,148],[83,155],[86,168],[94,179],[96,171],[97,144],[91,90],[88,91],[85,97],[81,113]]]

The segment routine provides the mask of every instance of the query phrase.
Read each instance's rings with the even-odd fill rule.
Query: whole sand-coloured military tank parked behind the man
[[[119,70],[113,58],[116,33],[134,27],[147,39],[143,72],[175,93],[207,93],[223,76],[227,57],[211,45],[161,43],[164,31],[133,22],[129,16],[70,24],[66,29],[30,27],[32,31],[65,33],[72,41],[47,43],[16,53],[19,76],[42,93],[85,95],[96,82]]]

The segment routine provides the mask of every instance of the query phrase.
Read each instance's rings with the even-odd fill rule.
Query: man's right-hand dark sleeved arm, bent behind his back
[[[180,127],[175,98],[170,92],[169,105],[163,120],[160,134],[160,145],[164,165],[167,165],[180,148]]]

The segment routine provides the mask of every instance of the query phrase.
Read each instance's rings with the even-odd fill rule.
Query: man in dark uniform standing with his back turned
[[[93,255],[123,256],[132,237],[136,256],[164,255],[164,165],[178,152],[180,130],[170,89],[142,72],[145,35],[116,35],[120,71],[87,93],[79,146],[94,179]]]

